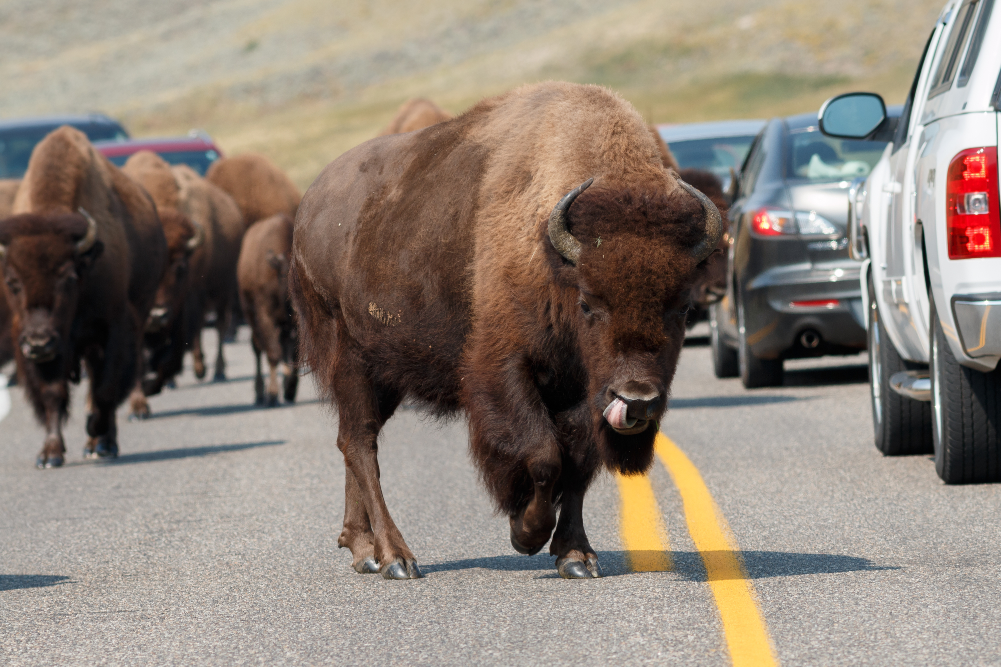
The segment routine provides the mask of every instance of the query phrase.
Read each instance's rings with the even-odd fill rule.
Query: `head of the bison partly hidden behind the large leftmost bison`
[[[167,238],[167,270],[156,290],[156,299],[146,320],[147,333],[168,330],[180,312],[190,284],[188,258],[205,241],[205,231],[175,208],[159,211]]]

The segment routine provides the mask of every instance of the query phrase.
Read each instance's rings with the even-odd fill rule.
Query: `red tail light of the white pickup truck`
[[[949,258],[1001,257],[997,147],[957,153],[949,163],[945,191]]]

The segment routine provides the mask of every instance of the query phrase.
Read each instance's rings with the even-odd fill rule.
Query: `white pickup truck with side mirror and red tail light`
[[[891,141],[850,190],[864,260],[876,447],[935,454],[947,483],[1001,481],[1001,11],[950,0],[899,119],[879,95],[820,110],[834,137]]]

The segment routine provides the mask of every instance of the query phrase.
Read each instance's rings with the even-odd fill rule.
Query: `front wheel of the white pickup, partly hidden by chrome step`
[[[869,277],[869,396],[873,406],[876,449],[886,456],[932,453],[931,404],[900,396],[890,377],[921,368],[900,357],[879,316],[876,289]]]

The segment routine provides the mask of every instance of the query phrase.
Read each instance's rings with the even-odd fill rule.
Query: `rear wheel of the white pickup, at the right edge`
[[[1001,481],[1001,366],[961,366],[932,304],[932,430],[935,472],[946,484]]]

